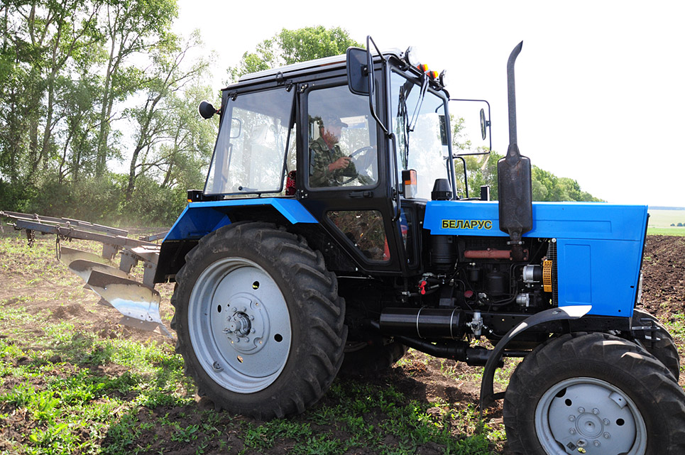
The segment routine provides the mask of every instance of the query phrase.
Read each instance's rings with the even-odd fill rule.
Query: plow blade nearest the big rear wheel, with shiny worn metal
[[[159,292],[137,281],[91,269],[87,285],[121,314],[121,324],[172,337],[159,313]]]

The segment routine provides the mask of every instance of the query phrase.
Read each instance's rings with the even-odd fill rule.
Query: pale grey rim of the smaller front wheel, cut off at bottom
[[[642,455],[647,427],[623,390],[596,378],[554,385],[535,410],[535,431],[550,455]]]

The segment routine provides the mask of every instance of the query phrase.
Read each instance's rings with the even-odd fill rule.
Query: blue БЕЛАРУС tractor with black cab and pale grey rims
[[[517,454],[681,455],[679,356],[636,309],[647,207],[532,202],[520,50],[498,202],[457,192],[464,154],[443,75],[367,38],[243,76],[220,109],[201,104],[220,122],[204,190],[158,251],[124,248],[148,264],[147,283],[72,268],[152,328],[154,283],[175,282],[177,351],[199,395],[231,412],[303,412],[340,371],[373,373],[412,348],[484,367],[481,409],[504,400]],[[485,139],[487,105],[479,120]],[[523,360],[494,393],[504,357]]]

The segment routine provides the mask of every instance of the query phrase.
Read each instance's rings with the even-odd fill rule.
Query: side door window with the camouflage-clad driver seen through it
[[[368,98],[344,85],[313,90],[307,106],[309,187],[376,185],[376,121],[368,111]]]

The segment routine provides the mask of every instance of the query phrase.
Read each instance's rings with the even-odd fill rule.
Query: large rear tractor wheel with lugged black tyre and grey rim
[[[261,419],[328,390],[346,340],[344,300],[320,253],[273,224],[205,236],[176,275],[172,329],[197,393]]]

